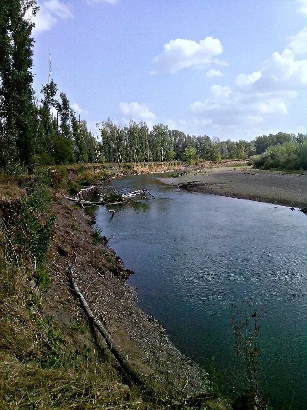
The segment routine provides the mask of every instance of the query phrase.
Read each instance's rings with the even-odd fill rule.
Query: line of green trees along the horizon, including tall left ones
[[[98,124],[99,138],[72,110],[67,95],[58,93],[49,72],[37,100],[33,90],[35,0],[0,0],[0,167],[19,165],[33,171],[35,165],[85,162],[144,162],[182,160],[220,161],[248,158],[284,142],[306,140],[287,133],[256,137],[253,141],[221,141],[169,130],[146,122],[115,125],[111,119]],[[97,134],[98,135],[98,134]]]

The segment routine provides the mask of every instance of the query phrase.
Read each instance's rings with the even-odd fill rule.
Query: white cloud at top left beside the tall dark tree
[[[34,33],[50,30],[58,20],[68,20],[73,17],[70,8],[59,0],[45,1],[39,4],[39,8],[36,16],[33,17],[31,12],[26,16],[35,24]]]

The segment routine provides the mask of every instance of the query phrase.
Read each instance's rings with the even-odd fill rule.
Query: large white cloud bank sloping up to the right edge
[[[287,104],[307,88],[307,28],[290,37],[281,52],[274,52],[260,70],[239,74],[232,86],[213,85],[204,100],[189,111],[212,126],[259,124],[268,116],[287,115]],[[209,123],[208,123],[209,124]]]

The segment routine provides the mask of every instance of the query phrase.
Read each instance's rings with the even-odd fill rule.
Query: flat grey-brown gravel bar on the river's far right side
[[[193,175],[195,172],[179,178],[160,178],[160,180],[169,185],[194,180],[221,183],[221,185],[211,185],[211,188],[195,187],[190,190],[284,206],[300,208],[307,206],[307,173],[261,171],[250,167],[211,168]]]

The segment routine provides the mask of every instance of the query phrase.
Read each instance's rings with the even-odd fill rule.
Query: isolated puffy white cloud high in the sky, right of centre
[[[159,71],[176,73],[188,67],[202,69],[212,63],[225,65],[227,64],[225,61],[214,58],[222,52],[222,43],[213,37],[206,37],[199,43],[184,38],[170,40],[164,45],[163,53],[153,59],[156,69],[152,73]]]

